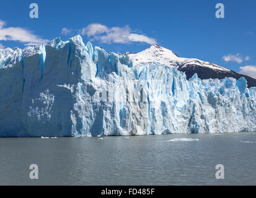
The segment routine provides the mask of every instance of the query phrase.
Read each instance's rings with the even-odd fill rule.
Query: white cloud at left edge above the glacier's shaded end
[[[24,45],[40,45],[47,43],[48,40],[44,40],[37,35],[33,35],[32,32],[21,27],[5,27],[6,22],[0,20],[0,41],[19,41]]]

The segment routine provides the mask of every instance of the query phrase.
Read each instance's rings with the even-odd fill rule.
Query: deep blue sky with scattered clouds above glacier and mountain
[[[38,4],[38,19],[29,17],[32,2]],[[224,4],[224,19],[215,17],[218,2]],[[80,33],[85,43],[107,51],[135,53],[156,42],[181,57],[256,77],[255,22],[253,0],[9,0],[0,6],[0,47],[24,48]]]

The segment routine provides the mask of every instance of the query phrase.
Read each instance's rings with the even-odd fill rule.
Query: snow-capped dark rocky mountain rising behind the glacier
[[[249,87],[256,87],[256,79],[252,77],[238,74],[211,62],[195,58],[180,58],[173,51],[159,45],[152,45],[139,53],[125,54],[133,61],[134,66],[144,64],[145,62],[159,62],[160,64],[171,68],[175,67],[179,71],[185,72],[187,79],[190,79],[195,73],[200,79],[224,79],[225,77],[239,79],[245,77]]]

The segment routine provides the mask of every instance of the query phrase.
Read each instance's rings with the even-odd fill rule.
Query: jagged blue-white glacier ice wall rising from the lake
[[[172,56],[176,57],[175,54]],[[256,131],[256,88],[134,66],[76,36],[0,49],[0,136],[126,136]]]

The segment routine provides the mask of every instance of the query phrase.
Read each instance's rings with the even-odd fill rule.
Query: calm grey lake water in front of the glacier
[[[256,185],[256,133],[0,139],[0,184]]]

